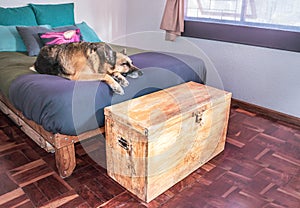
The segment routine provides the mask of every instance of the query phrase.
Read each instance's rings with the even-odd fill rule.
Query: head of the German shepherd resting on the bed
[[[138,76],[143,75],[143,72],[138,67],[133,65],[132,60],[126,55],[125,50],[116,53],[116,64],[114,71],[121,73],[125,77],[129,76],[132,78],[137,78]]]

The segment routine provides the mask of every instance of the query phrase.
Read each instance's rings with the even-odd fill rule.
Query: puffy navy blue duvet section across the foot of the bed
[[[24,116],[53,133],[79,135],[104,126],[104,108],[187,81],[203,83],[204,62],[196,57],[158,52],[130,56],[142,69],[127,77],[125,94],[112,93],[104,82],[73,81],[46,74],[22,75],[9,88],[9,99]]]

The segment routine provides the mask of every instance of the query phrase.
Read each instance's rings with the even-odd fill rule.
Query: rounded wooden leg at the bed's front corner
[[[55,150],[56,167],[62,178],[70,176],[76,166],[74,144]]]

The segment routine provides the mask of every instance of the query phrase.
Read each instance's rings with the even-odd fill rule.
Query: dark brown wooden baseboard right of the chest
[[[278,111],[274,111],[274,110],[271,110],[268,108],[264,108],[264,107],[254,105],[251,103],[247,103],[247,102],[244,102],[244,101],[241,101],[238,99],[234,99],[234,98],[231,100],[231,106],[239,107],[239,108],[247,110],[249,112],[260,114],[269,119],[276,120],[279,122],[284,122],[287,124],[291,124],[291,125],[294,125],[294,126],[300,128],[300,118],[295,117],[295,116],[284,114],[284,113],[281,113]]]

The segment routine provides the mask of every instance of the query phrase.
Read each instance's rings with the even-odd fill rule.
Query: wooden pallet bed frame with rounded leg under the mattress
[[[78,136],[53,134],[46,131],[41,125],[25,118],[22,112],[17,110],[1,92],[0,110],[41,148],[47,152],[55,153],[56,167],[62,178],[70,176],[76,167],[75,143],[105,132],[105,128],[101,127]]]

